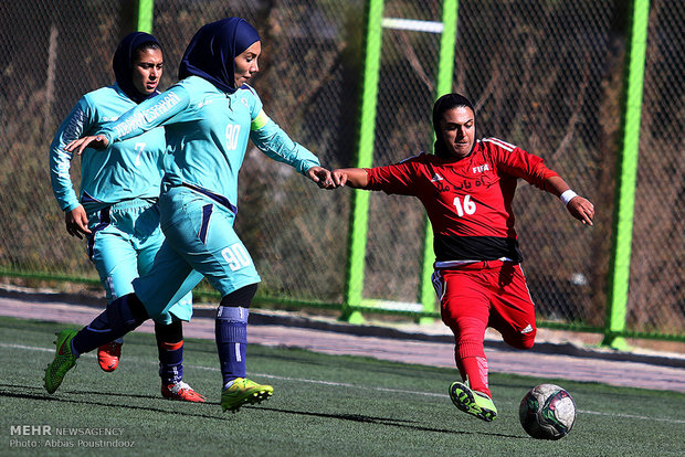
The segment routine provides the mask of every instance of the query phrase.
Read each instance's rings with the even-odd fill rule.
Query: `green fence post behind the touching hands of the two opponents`
[[[383,0],[369,0],[366,9],[365,24],[365,62],[361,92],[361,117],[356,168],[369,168],[373,164],[373,141],[376,138],[376,107],[378,102],[378,77],[380,73],[380,49],[382,40]],[[369,223],[369,192],[355,189],[350,209],[350,230],[347,243],[348,261],[345,300],[340,320],[352,323],[363,321],[361,312],[351,307],[361,305],[363,298],[363,269]]]

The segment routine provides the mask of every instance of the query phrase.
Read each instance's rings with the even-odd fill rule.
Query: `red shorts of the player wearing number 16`
[[[485,339],[492,327],[519,349],[530,349],[537,331],[535,305],[520,265],[487,261],[436,269],[433,287],[443,322],[459,342],[465,331]],[[475,328],[474,328],[475,327]]]

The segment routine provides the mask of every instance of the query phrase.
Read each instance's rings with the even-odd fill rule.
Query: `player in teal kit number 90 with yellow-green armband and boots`
[[[194,285],[187,280],[194,268],[222,296],[215,339],[223,411],[238,411],[272,395],[271,385],[245,378],[249,308],[261,280],[233,230],[238,173],[247,140],[320,187],[331,181],[316,156],[266,116],[256,92],[246,84],[259,71],[261,52],[260,35],[244,20],[207,24],[186,50],[178,84],[96,136],[67,146],[70,151],[81,151],[88,145],[116,145],[164,125],[169,157],[159,205],[166,241],[149,274],[134,281],[135,294],[115,300],[108,312],[81,331],[59,333],[55,358],[45,371],[49,392],[56,391],[80,354],[166,312],[175,294],[186,294]]]

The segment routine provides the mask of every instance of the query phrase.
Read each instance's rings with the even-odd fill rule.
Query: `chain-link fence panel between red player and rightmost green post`
[[[475,99],[478,136],[542,157],[597,206],[587,230],[559,201],[519,184],[524,269],[547,320],[604,319],[624,51],[618,3],[461,2],[455,82]]]

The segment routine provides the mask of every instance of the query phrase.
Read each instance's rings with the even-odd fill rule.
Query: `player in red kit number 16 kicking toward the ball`
[[[447,94],[433,106],[435,155],[370,169],[334,170],[334,185],[417,196],[433,226],[433,286],[443,322],[455,339],[463,382],[450,386],[454,405],[489,422],[497,416],[487,384],[485,329],[514,348],[535,341],[535,306],[520,268],[512,201],[519,178],[561,199],[592,225],[594,206],[577,195],[542,159],[495,138],[475,140],[472,103]]]

